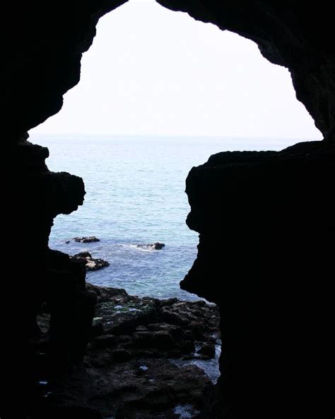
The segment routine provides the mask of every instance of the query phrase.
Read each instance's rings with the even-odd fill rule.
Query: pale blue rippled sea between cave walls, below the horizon
[[[130,294],[199,299],[179,282],[196,258],[198,235],[185,219],[189,204],[185,179],[192,166],[225,150],[282,149],[296,140],[218,137],[43,137],[30,141],[48,147],[47,166],[81,176],[85,202],[59,215],[51,248],[69,254],[89,251],[110,266],[88,272],[88,282],[124,288]],[[75,236],[97,236],[98,243],[66,243]],[[160,251],[137,244],[165,243]]]

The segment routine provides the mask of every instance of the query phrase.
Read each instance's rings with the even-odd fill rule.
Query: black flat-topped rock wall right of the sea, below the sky
[[[220,306],[223,340],[201,418],[319,414],[327,380],[307,366],[331,328],[334,145],[225,152],[189,173],[187,224],[200,241],[182,288]]]

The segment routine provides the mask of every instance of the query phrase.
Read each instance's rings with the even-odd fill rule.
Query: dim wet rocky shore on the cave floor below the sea
[[[89,284],[87,289],[98,305],[83,365],[70,377],[40,377],[45,406],[80,406],[115,419],[195,417],[213,389],[196,361],[210,363],[216,355],[216,306],[131,297],[124,289]],[[39,326],[37,351],[47,353],[49,314],[40,314]]]

